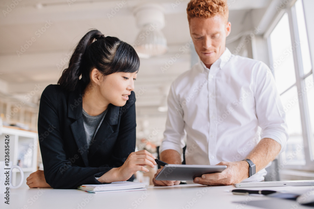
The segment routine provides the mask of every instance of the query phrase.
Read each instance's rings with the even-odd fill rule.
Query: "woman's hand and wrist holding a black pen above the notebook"
[[[129,154],[121,167],[109,170],[98,180],[103,183],[126,181],[131,178],[131,176],[138,170],[148,172],[149,170],[144,167],[145,165],[149,165],[150,167],[154,168],[155,165],[157,165],[155,159],[155,156],[146,150],[133,152]]]

